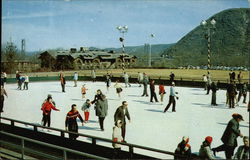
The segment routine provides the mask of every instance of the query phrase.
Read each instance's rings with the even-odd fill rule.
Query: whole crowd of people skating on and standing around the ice
[[[243,103],[246,103],[246,96],[248,92],[248,85],[247,83],[242,83],[242,75],[241,72],[239,73],[238,77],[238,85],[236,86],[236,80],[235,80],[235,73],[230,72],[230,83],[227,86],[227,101],[226,104],[229,105],[229,108],[235,108],[235,104],[238,104],[238,102],[241,100],[241,97],[243,96]],[[112,75],[110,73],[107,73],[105,75],[105,83],[107,87],[107,93],[109,91],[109,87],[112,83]],[[129,82],[129,75],[128,73],[123,73],[123,80],[124,86],[130,87],[131,84]],[[168,111],[170,106],[172,105],[172,112],[176,112],[176,99],[178,100],[178,92],[175,91],[175,75],[173,72],[169,75],[170,77],[170,90],[169,90],[169,102],[163,112],[165,113]],[[95,70],[91,71],[91,78],[92,81],[96,81],[96,74]],[[62,87],[62,92],[65,92],[65,76],[63,72],[60,72],[59,79]],[[16,72],[16,80],[18,84],[18,90],[22,89],[22,84],[24,84],[23,89],[28,90],[28,83],[29,83],[29,77],[27,75],[21,75],[18,71]],[[78,73],[75,72],[73,75],[73,81],[74,81],[74,87],[77,87],[77,81],[78,81]],[[143,86],[142,89],[142,97],[146,96],[148,97],[148,85],[150,88],[150,98],[149,101],[153,103],[153,100],[155,102],[158,102],[156,90],[155,90],[155,81],[153,79],[150,79],[146,73],[140,73],[138,72],[138,87]],[[208,72],[207,75],[203,75],[203,81],[204,81],[204,90],[206,90],[206,93],[209,94],[210,90],[212,91],[212,100],[211,105],[215,106],[216,103],[216,92],[218,90],[217,83],[212,81],[211,75]],[[118,94],[118,97],[121,97],[121,93],[123,91],[123,86],[121,85],[119,80],[116,80],[114,84],[114,88],[116,89],[116,93]],[[82,99],[86,99],[87,94],[87,88],[84,85],[81,87],[81,94]],[[238,92],[237,92],[238,91]],[[160,96],[160,102],[163,103],[164,95],[166,94],[166,90],[163,83],[160,83],[159,85],[159,96]],[[238,97],[236,95],[238,94]],[[4,96],[7,96],[7,93],[1,85],[1,112],[3,112],[3,101]],[[91,101],[90,99],[86,99],[86,101],[81,106],[81,110],[84,112],[84,119],[82,118],[80,112],[76,109],[76,104],[72,104],[71,110],[67,113],[65,118],[65,129],[67,131],[70,131],[69,138],[72,140],[76,140],[78,137],[78,124],[77,124],[77,118],[80,119],[82,125],[87,124],[89,121],[89,112],[90,107],[93,106],[95,109],[95,115],[98,117],[99,120],[99,126],[100,130],[104,131],[104,120],[108,113],[108,100],[105,94],[98,89],[96,91],[96,94]],[[52,95],[48,95],[48,97],[45,99],[45,101],[42,103],[41,106],[42,110],[42,125],[50,127],[51,124],[51,111],[60,111],[56,108],[56,104],[52,99]],[[128,103],[127,101],[123,101],[121,106],[119,106],[115,113],[114,113],[114,124],[113,127],[113,147],[114,147],[114,156],[115,158],[119,158],[119,152],[121,151],[121,145],[115,142],[124,142],[125,141],[125,134],[126,134],[126,117],[131,121],[130,114],[128,111]],[[204,142],[202,142],[200,150],[199,150],[199,156],[203,157],[205,159],[215,159],[216,152],[225,151],[225,155],[227,159],[231,159],[233,156],[236,159],[248,159],[249,158],[249,137],[243,136],[242,133],[239,130],[239,122],[243,120],[243,117],[240,114],[233,114],[232,119],[229,121],[227,128],[221,138],[223,144],[217,148],[211,149],[211,143],[213,138],[211,136],[205,137]],[[49,130],[48,130],[49,131]],[[237,137],[242,137],[244,141],[244,146],[240,146],[234,154],[234,150],[237,147]],[[187,157],[194,157],[195,155],[191,152],[191,145],[188,143],[189,138],[183,137],[182,141],[178,144],[177,149],[175,150],[175,159],[185,159]]]

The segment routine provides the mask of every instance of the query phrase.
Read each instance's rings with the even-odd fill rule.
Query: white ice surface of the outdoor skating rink
[[[138,87],[138,84],[123,88],[121,99],[116,94],[113,87],[114,83],[107,92],[104,82],[78,81],[78,86],[73,87],[73,82],[67,81],[65,93],[61,92],[59,81],[30,82],[29,90],[21,91],[17,90],[17,84],[7,84],[5,89],[8,98],[5,98],[2,116],[40,124],[42,119],[41,104],[47,95],[51,94],[56,102],[56,107],[60,109],[59,112],[52,111],[51,127],[64,129],[65,116],[71,109],[72,104],[77,104],[78,111],[84,118],[83,111],[81,111],[81,106],[86,100],[86,98],[81,98],[81,86],[83,84],[86,84],[88,89],[86,98],[90,100],[93,100],[96,90],[101,89],[107,96],[109,109],[108,116],[104,121],[105,131],[100,130],[98,117],[95,116],[94,106],[92,105],[90,122],[84,126],[80,126],[81,123],[79,122],[80,133],[111,139],[114,112],[122,101],[126,100],[129,104],[128,109],[131,116],[131,123],[127,121],[126,141],[128,143],[174,152],[182,136],[188,136],[192,152],[199,152],[200,145],[205,137],[212,136],[211,147],[217,147],[222,144],[220,138],[233,113],[239,113],[243,116],[245,121],[240,123],[240,130],[243,135],[249,135],[249,113],[247,112],[247,105],[242,103],[243,98],[238,107],[228,109],[225,105],[226,91],[219,90],[217,92],[218,106],[212,107],[210,105],[211,92],[210,95],[206,95],[204,89],[201,88],[176,87],[179,96],[179,100],[176,101],[176,112],[171,112],[172,108],[170,107],[166,113],[163,113],[169,99],[169,86],[165,86],[167,93],[164,97],[164,103],[160,104],[159,102],[151,103],[150,97],[141,97],[143,87]],[[158,85],[156,85],[156,93],[159,100]],[[53,132],[48,133],[53,134]],[[242,138],[238,138],[238,144],[243,144]],[[107,145],[112,147],[111,144]],[[149,154],[163,159],[172,158],[166,155]],[[217,156],[225,157],[223,152],[217,153]]]

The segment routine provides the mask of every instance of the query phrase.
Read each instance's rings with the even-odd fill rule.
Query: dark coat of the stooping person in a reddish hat
[[[221,137],[221,141],[225,145],[236,147],[238,145],[237,137],[239,135],[240,135],[239,122],[233,118],[228,122],[227,128]]]

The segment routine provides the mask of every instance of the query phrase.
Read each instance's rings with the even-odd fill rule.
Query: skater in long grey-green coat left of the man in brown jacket
[[[101,95],[101,99],[98,99],[95,106],[96,116],[99,118],[99,125],[102,131],[104,131],[104,119],[108,115],[108,101],[105,95]]]

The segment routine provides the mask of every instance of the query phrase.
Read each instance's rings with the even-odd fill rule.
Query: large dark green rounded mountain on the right
[[[250,9],[237,8],[219,12],[209,19],[216,20],[211,29],[212,65],[248,66],[250,54]],[[208,29],[199,25],[162,55],[173,57],[180,65],[206,65]]]

